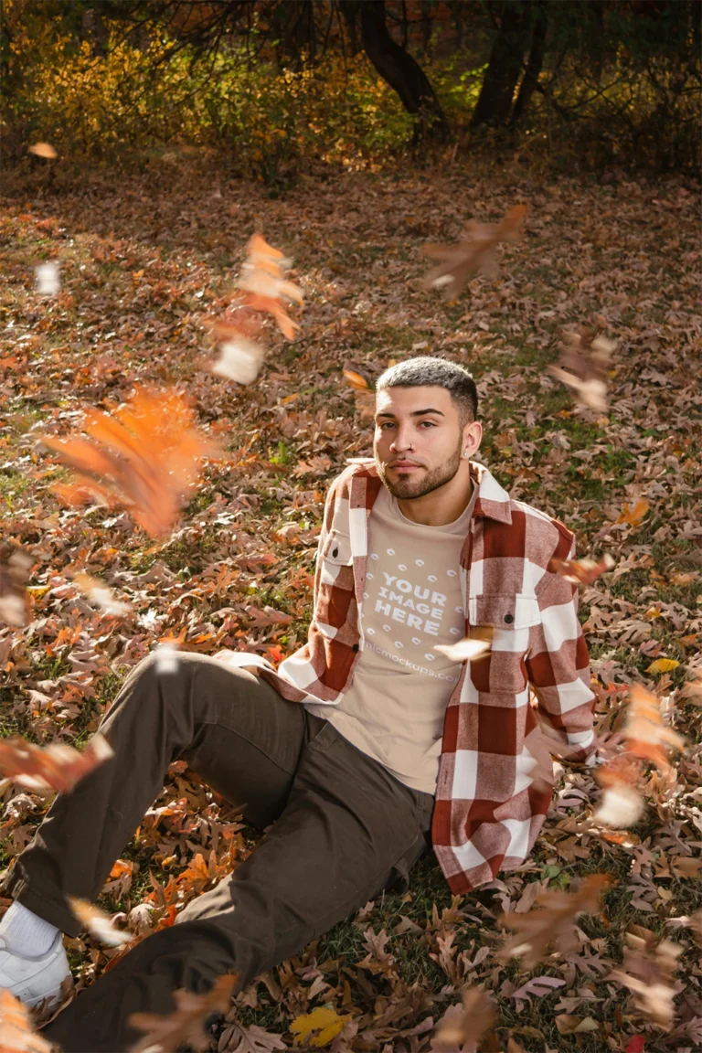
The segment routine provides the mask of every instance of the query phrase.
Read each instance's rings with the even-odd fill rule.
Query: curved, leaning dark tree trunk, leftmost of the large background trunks
[[[428,77],[389,35],[384,0],[366,0],[361,7],[361,42],[380,76],[400,96],[404,108],[417,117],[415,138],[445,136],[446,119]]]

